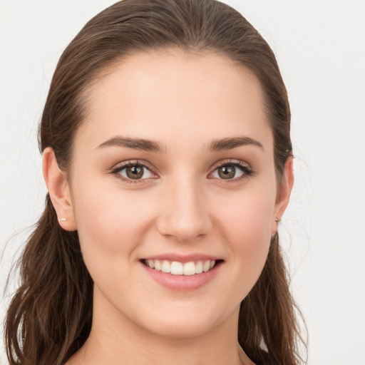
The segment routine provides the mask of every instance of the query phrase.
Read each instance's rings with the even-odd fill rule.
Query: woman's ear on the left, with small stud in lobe
[[[43,178],[46,181],[52,205],[56,210],[59,225],[63,230],[76,230],[67,173],[58,168],[56,156],[50,147],[43,151]]]

